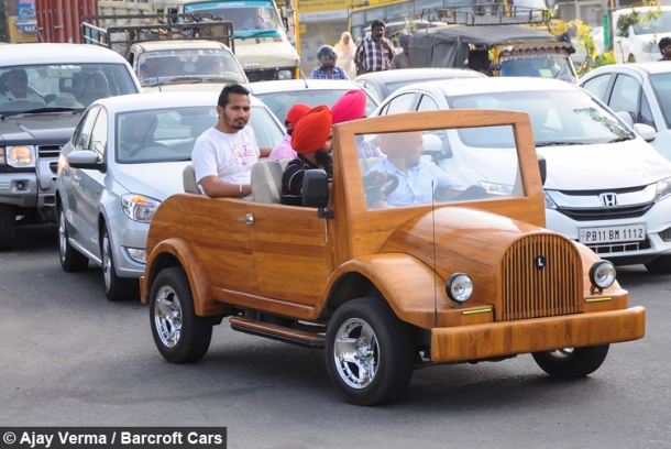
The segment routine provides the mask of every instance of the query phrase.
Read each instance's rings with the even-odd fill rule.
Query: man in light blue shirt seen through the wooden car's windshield
[[[413,206],[431,202],[439,189],[464,190],[465,186],[441,171],[433,162],[422,160],[421,131],[392,132],[382,135],[380,150],[386,158],[371,168],[373,173],[392,174],[398,186],[386,198],[388,206]],[[464,198],[465,199],[465,198]],[[366,198],[373,208],[383,207],[381,198]]]

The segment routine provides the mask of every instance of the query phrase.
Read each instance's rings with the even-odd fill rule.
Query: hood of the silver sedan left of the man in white
[[[117,164],[113,167],[113,177],[129,193],[163,201],[173,194],[184,191],[182,172],[190,163],[190,161],[180,161]]]

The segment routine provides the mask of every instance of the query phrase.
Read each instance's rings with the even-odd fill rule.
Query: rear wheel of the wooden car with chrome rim
[[[152,284],[150,324],[154,343],[168,362],[196,362],[210,348],[212,319],[196,315],[191,286],[180,266],[163,270]]]

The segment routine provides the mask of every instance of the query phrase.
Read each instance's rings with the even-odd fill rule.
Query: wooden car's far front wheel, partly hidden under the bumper
[[[566,348],[556,351],[534,352],[534,360],[553,377],[584,377],[592,374],[606,360],[609,344],[586,348]]]

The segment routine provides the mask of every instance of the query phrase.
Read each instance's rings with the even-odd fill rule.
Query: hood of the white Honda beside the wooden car
[[[671,163],[642,139],[538,149],[550,190],[602,190],[645,186],[671,176]]]

